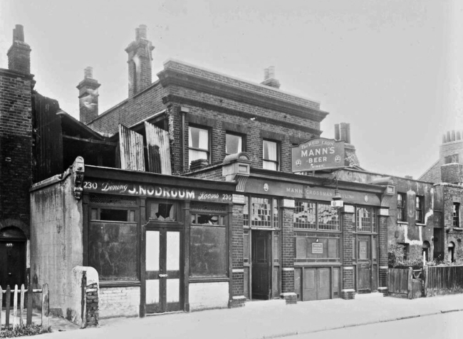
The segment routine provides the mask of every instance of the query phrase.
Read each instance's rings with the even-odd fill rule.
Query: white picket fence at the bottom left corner
[[[13,321],[10,321],[10,311],[11,311],[11,293],[13,293]],[[19,293],[19,318],[18,318],[18,293]],[[6,290],[3,290],[0,286],[0,330],[2,320],[1,314],[1,305],[3,303],[3,298],[5,298],[5,327],[4,330],[11,328],[16,328],[18,326],[24,325],[24,297],[27,295],[27,312],[26,312],[26,325],[31,325],[32,323],[32,296],[33,293],[42,293],[42,326],[43,328],[48,328],[50,321],[48,315],[50,313],[50,301],[48,293],[48,283],[43,284],[41,289],[33,289],[31,284],[29,284],[28,289],[24,289],[24,284],[21,285],[21,289],[18,290],[18,285],[14,286],[14,290],[11,290],[10,286],[6,286]],[[4,297],[5,295],[5,297]],[[19,322],[18,322],[19,320]]]

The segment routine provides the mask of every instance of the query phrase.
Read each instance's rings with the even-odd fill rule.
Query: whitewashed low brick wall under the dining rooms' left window
[[[136,317],[140,311],[140,287],[101,287],[100,319]]]

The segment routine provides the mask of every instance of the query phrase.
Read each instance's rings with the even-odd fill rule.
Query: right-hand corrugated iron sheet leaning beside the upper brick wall
[[[170,167],[169,132],[145,121],[148,147],[148,169],[150,172],[172,174]]]

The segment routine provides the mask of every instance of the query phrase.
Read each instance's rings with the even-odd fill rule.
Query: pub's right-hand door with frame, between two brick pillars
[[[371,293],[378,289],[377,236],[357,236],[357,292]]]

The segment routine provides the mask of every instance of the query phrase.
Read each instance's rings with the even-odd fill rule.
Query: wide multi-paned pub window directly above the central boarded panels
[[[339,211],[321,202],[296,201],[293,214],[294,228],[339,231]]]

